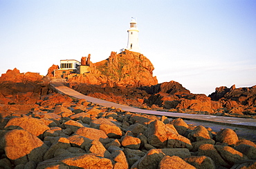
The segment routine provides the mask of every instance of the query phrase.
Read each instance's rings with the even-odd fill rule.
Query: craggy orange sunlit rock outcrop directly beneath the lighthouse
[[[68,79],[69,83],[106,84],[107,86],[152,86],[158,83],[153,76],[154,66],[143,54],[126,50],[111,52],[108,59],[90,64],[91,72]]]

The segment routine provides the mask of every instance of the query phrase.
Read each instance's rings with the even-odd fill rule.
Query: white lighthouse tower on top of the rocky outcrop
[[[138,28],[137,22],[134,18],[131,18],[130,28],[127,30],[128,32],[128,43],[127,50],[133,52],[140,52],[140,47],[138,46]]]

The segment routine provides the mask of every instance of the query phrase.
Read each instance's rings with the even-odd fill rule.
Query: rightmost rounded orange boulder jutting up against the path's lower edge
[[[239,139],[237,137],[237,133],[235,133],[234,130],[225,128],[217,133],[216,141],[220,143],[227,143],[228,145],[235,145]]]

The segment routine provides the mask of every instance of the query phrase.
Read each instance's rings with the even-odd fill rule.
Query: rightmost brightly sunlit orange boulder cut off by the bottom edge
[[[165,169],[165,168],[191,168],[191,169],[196,169],[194,166],[190,165],[190,163],[187,163],[183,159],[181,159],[178,156],[165,156],[163,159],[160,161],[158,169]]]

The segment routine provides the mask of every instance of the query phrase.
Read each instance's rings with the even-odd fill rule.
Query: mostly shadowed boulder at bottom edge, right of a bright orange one
[[[187,163],[190,163],[192,166],[194,166],[197,169],[215,169],[214,161],[210,157],[206,156],[192,156],[184,158],[184,161]]]

